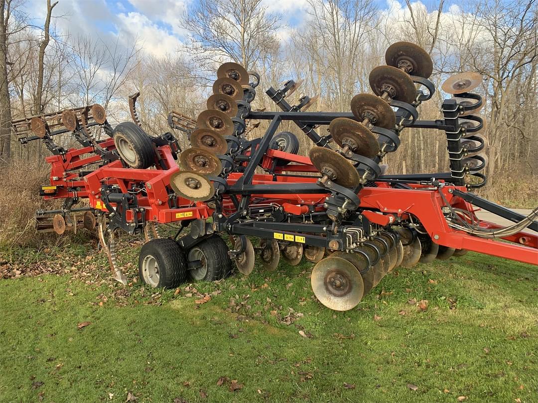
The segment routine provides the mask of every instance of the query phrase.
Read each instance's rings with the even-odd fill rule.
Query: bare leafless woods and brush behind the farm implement
[[[447,94],[440,85],[447,77],[462,71],[483,75],[476,92],[485,100],[480,116],[487,122],[490,146],[489,184],[480,194],[512,207],[537,204],[534,0],[458,5],[444,0],[305,0],[301,21],[293,26],[265,0],[199,0],[167,17],[181,32],[181,46],[168,37],[141,40],[136,25],[102,37],[83,32],[69,7],[62,8],[63,1],[43,0],[46,17],[38,20],[24,2],[0,0],[0,241],[8,233],[25,239],[33,211],[43,206],[37,188],[48,174],[48,150],[38,142],[20,146],[11,133],[12,119],[100,103],[114,126],[129,120],[127,97],[140,91],[143,128],[162,134],[170,131],[169,111],[196,118],[206,109],[216,69],[229,60],[261,75],[254,107],[274,110],[265,89],[293,78],[304,80],[293,98],[320,95],[311,111],[349,111],[353,95],[371,92],[370,71],[385,63],[386,48],[399,40],[419,44],[434,61],[430,80],[438,91],[420,106],[421,119],[441,116]],[[83,3],[97,9],[101,4]],[[291,123],[281,127],[298,135],[302,154],[312,147]],[[185,146],[185,136],[175,134]],[[262,126],[253,135],[261,134]],[[71,139],[66,135],[55,141],[68,147]],[[406,129],[398,152],[387,161],[394,174],[447,171],[444,135]]]

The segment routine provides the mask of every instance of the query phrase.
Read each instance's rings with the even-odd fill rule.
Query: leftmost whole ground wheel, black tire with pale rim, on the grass
[[[177,288],[187,280],[187,259],[172,239],[154,239],[144,244],[138,257],[138,275],[154,288]]]

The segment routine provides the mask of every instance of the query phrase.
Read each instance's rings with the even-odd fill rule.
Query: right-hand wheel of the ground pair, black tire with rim
[[[189,277],[196,281],[220,280],[228,277],[232,270],[228,245],[218,235],[213,235],[190,248],[187,261],[201,261],[200,267],[188,270]]]

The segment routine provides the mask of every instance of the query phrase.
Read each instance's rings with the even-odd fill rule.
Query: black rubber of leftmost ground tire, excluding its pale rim
[[[159,283],[155,288],[173,289],[187,281],[187,258],[185,252],[172,239],[160,238],[146,242],[138,257],[138,275],[144,284],[143,262],[151,255],[159,265]]]

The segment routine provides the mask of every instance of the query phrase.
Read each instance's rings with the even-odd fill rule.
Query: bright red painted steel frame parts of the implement
[[[109,139],[101,143],[102,147],[109,149],[114,148],[114,140]],[[69,150],[65,155],[55,155],[47,157],[46,161],[52,165],[51,185],[59,186],[59,191],[54,196],[45,198],[65,198],[65,197],[88,197],[91,207],[97,210],[107,211],[101,203],[101,185],[114,184],[126,193],[133,183],[145,183],[147,196],[139,196],[138,205],[146,208],[146,220],[159,223],[168,223],[181,220],[206,219],[211,217],[213,210],[206,203],[193,203],[187,199],[178,198],[179,208],[169,208],[168,191],[171,176],[179,171],[175,160],[173,159],[172,149],[169,146],[157,148],[159,157],[165,161],[168,169],[132,169],[125,168],[119,160],[111,162],[84,176],[83,180],[75,180],[78,177],[75,173],[69,171],[86,167],[87,165],[102,162],[98,155],[83,157],[84,154],[93,152],[93,147],[84,147],[81,149]],[[264,184],[271,185],[275,183],[313,183],[316,178],[308,176],[282,176],[282,172],[317,172],[308,157],[281,152],[279,150],[268,150],[261,166],[270,168],[273,159],[286,159],[294,164],[288,164],[284,167],[278,167],[275,170],[276,176],[268,174],[256,174],[253,178],[253,185]],[[157,166],[159,166],[157,164]],[[241,176],[240,173],[232,173],[228,176],[228,183],[233,184]],[[275,181],[276,177],[276,181]],[[385,216],[379,222],[375,221],[376,217],[370,215],[374,222],[381,224],[390,223],[394,217],[402,219],[414,217],[426,229],[431,239],[435,243],[443,246],[467,249],[492,256],[503,257],[515,261],[538,264],[538,237],[535,234],[520,232],[512,236],[503,238],[504,240],[514,243],[499,242],[492,239],[479,238],[463,231],[457,231],[449,227],[447,220],[442,213],[444,198],[451,206],[463,208],[470,214],[474,215],[475,210],[468,202],[453,196],[449,190],[458,189],[465,191],[463,186],[442,186],[441,190],[432,190],[428,186],[411,185],[413,189],[394,189],[386,183],[377,183],[377,188],[366,187],[359,193],[360,207],[381,212]],[[83,190],[79,192],[69,192],[67,187],[80,186]],[[253,198],[270,199],[280,205],[287,204],[286,210],[293,214],[293,211],[300,213],[300,206],[310,205],[318,206],[327,196],[327,193],[319,194],[253,194]],[[289,206],[292,205],[292,206]],[[299,205],[299,210],[293,206]],[[233,210],[233,204],[228,201],[225,203],[224,210]],[[378,213],[376,213],[379,215]],[[128,220],[132,215],[127,215]],[[482,221],[480,226],[484,228],[500,228],[500,226],[490,222]]]

